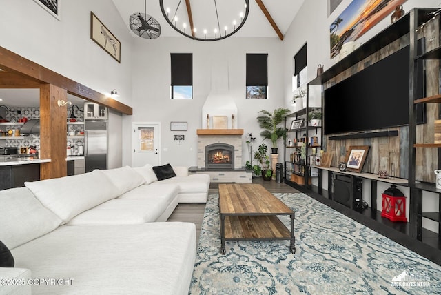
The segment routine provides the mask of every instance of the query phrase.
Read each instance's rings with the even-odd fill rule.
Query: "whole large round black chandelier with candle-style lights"
[[[184,3],[183,3],[184,2]],[[249,0],[160,0],[167,23],[185,37],[216,41],[236,33],[248,17]]]

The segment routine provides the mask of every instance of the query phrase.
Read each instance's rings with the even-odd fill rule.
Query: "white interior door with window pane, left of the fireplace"
[[[133,123],[132,167],[145,164],[157,166],[161,163],[161,123]]]

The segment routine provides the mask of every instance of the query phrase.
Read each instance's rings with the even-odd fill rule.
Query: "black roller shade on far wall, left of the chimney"
[[[193,54],[172,53],[172,86],[193,85]]]

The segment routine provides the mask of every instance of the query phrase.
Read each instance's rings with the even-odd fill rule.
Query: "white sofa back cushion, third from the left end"
[[[116,188],[118,188],[119,196],[145,183],[143,176],[129,166],[101,170],[101,172],[103,172],[104,175],[112,181]]]

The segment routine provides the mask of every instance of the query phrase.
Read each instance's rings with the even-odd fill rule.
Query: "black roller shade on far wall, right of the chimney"
[[[247,53],[247,86],[268,85],[268,54]]]

